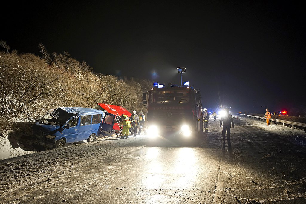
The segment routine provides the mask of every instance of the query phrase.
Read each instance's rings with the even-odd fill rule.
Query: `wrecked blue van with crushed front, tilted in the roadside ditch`
[[[114,120],[113,114],[103,113],[102,110],[59,107],[49,110],[32,129],[36,138],[52,144],[54,148],[61,148],[66,143],[92,142],[102,135],[111,136]]]

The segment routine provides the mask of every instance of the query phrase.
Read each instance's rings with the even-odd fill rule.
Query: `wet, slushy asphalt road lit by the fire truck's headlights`
[[[218,118],[217,118],[218,119]],[[236,119],[208,135],[99,140],[0,161],[0,203],[306,203],[306,140]]]

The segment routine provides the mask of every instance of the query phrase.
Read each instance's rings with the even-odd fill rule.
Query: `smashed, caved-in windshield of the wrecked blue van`
[[[67,113],[65,110],[57,108],[52,113],[47,115],[47,118],[43,117],[39,123],[62,126],[73,116],[76,117],[77,115],[73,113]]]

